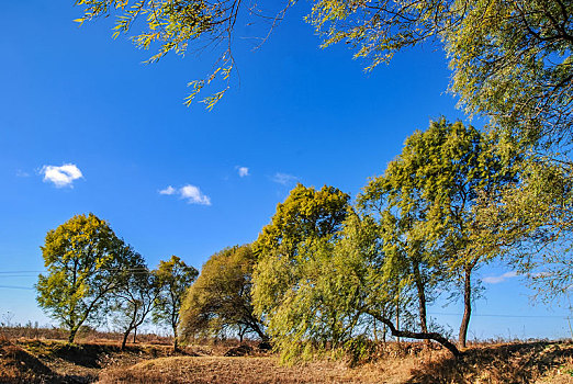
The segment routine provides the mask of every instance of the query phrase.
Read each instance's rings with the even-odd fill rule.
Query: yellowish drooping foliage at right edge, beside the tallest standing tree
[[[518,183],[481,199],[475,213],[482,230],[472,241],[503,253],[535,297],[552,303],[573,286],[572,168],[538,156],[520,167]]]

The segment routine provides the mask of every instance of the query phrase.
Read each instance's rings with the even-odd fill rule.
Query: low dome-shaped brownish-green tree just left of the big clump
[[[246,245],[226,248],[203,264],[181,307],[183,338],[233,332],[241,342],[246,334],[268,339],[251,303],[255,261],[250,246]]]

